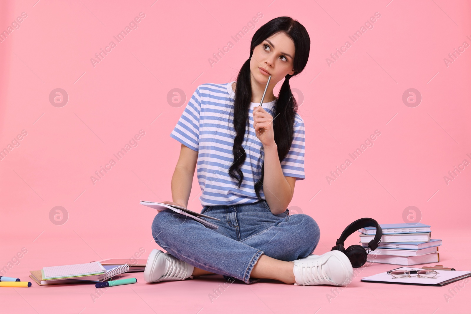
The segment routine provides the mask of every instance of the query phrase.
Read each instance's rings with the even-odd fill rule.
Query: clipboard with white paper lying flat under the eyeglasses
[[[398,267],[393,270],[422,270],[418,267]],[[454,271],[437,271],[437,278],[419,278],[412,276],[410,278],[393,278],[388,272],[375,274],[372,276],[364,277],[360,279],[362,282],[378,282],[378,283],[395,283],[395,284],[410,284],[418,286],[445,286],[448,283],[456,282],[467,277],[471,277],[471,271],[454,270]]]

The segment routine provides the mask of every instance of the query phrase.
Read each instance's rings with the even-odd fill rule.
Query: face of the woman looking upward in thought
[[[293,74],[294,42],[284,32],[276,33],[253,49],[250,59],[252,78],[266,85],[268,74],[260,72],[264,68],[271,75],[270,85],[283,80],[286,74]]]

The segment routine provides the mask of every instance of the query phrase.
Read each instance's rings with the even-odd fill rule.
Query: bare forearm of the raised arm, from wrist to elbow
[[[264,147],[263,193],[274,215],[281,214],[292,199],[291,186],[286,181],[278,159],[277,146]]]

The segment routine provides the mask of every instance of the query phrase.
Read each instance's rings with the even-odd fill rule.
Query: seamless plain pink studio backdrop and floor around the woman
[[[306,179],[297,181],[289,208],[319,224],[315,254],[330,250],[353,220],[401,223],[406,207],[415,206],[420,221],[431,225],[432,238],[443,241],[440,264],[471,269],[469,250],[462,249],[470,237],[471,166],[448,184],[444,179],[464,159],[471,162],[466,155],[471,155],[471,47],[448,66],[444,62],[464,41],[471,44],[469,2],[8,0],[0,3],[0,32],[22,12],[27,17],[19,29],[0,43],[0,149],[27,132],[0,161],[0,267],[27,249],[7,276],[28,281],[29,271],[43,266],[130,258],[141,248],[140,258],[147,258],[159,248],[150,229],[156,211],[139,201],[172,200],[180,143],[169,136],[171,130],[196,87],[235,80],[249,57],[253,33],[284,15],[300,21],[311,40],[308,64],[291,80],[305,123]],[[138,28],[117,43],[113,36],[139,12],[145,17]],[[235,42],[231,36],[258,12],[262,17]],[[381,17],[373,28],[352,42],[349,36],[375,12]],[[93,66],[90,58],[111,40],[116,47]],[[347,40],[351,47],[329,67],[326,58]],[[209,58],[228,41],[234,47],[211,66]],[[62,107],[49,102],[57,88],[68,94]],[[181,104],[167,100],[176,88],[184,93]],[[418,106],[402,101],[410,88],[422,95]],[[115,159],[113,154],[139,130],[145,136],[138,145],[93,184],[95,171]],[[347,158],[352,161],[349,153],[375,130],[381,135],[374,145],[329,185],[330,171]],[[202,209],[199,195],[195,176],[189,209]],[[66,209],[65,224],[49,219],[55,206]],[[346,246],[357,242],[354,234]],[[359,281],[392,268],[361,268],[350,289],[331,302],[326,298],[331,286],[274,281],[232,284],[235,288],[211,303],[207,295],[223,282],[218,275],[163,286],[147,284],[142,273],[129,274],[137,284],[106,290],[95,302],[90,285],[32,282],[29,289],[0,289],[2,308],[21,308],[22,313],[219,313],[235,302],[238,310],[260,313],[341,313],[353,301],[367,301],[374,313],[469,313],[469,284],[447,302],[444,294],[453,284],[431,288]],[[179,301],[177,294],[189,299]],[[394,301],[410,296],[415,300]]]

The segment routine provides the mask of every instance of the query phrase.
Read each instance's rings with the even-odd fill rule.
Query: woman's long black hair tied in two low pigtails
[[[236,179],[237,186],[240,188],[244,180],[244,174],[239,167],[244,163],[246,153],[242,147],[244,141],[246,127],[249,126],[249,105],[252,99],[252,86],[250,81],[250,58],[252,57],[253,49],[260,45],[263,40],[272,36],[275,33],[283,32],[294,42],[294,74],[287,74],[285,76],[283,85],[281,86],[280,93],[276,100],[273,114],[273,131],[275,135],[275,143],[278,146],[278,158],[283,161],[284,157],[289,153],[292,138],[294,118],[296,116],[298,105],[296,99],[293,97],[290,88],[290,78],[298,75],[308,63],[310,39],[309,34],[298,21],[293,20],[289,16],[280,16],[270,20],[268,23],[260,26],[260,28],[253,34],[252,42],[250,44],[250,57],[242,65],[239,74],[237,75],[237,84],[235,85],[234,97],[234,129],[236,131],[234,146],[232,153],[234,154],[234,161],[230,166],[228,173],[229,176]],[[261,151],[260,151],[261,154]],[[255,193],[257,198],[261,200],[260,189],[263,187],[263,173],[264,163],[262,163],[261,177],[255,183]]]

